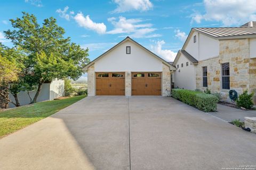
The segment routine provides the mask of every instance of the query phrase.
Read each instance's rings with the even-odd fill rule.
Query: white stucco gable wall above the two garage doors
[[[131,54],[126,54],[131,46]],[[131,41],[112,50],[94,63],[95,72],[162,72],[162,61]]]

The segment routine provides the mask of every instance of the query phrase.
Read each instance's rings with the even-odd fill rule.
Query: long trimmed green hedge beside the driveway
[[[218,97],[199,91],[172,89],[172,97],[204,112],[217,110]]]

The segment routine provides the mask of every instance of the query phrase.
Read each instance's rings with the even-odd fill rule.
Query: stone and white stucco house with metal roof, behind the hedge
[[[256,94],[256,22],[241,27],[192,28],[173,65],[177,68],[172,74],[175,87],[209,88],[228,102],[231,89]]]

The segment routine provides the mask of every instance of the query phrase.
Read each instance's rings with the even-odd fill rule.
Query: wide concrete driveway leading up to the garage
[[[0,169],[221,169],[256,135],[170,97],[87,97],[0,140]]]

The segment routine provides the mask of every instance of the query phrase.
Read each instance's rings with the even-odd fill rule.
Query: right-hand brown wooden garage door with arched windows
[[[132,73],[132,95],[161,96],[161,73]]]

